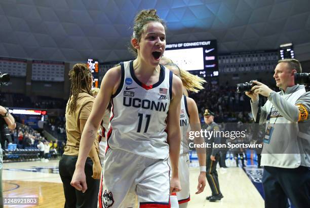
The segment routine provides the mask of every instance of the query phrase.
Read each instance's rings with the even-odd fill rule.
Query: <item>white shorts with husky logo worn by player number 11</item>
[[[100,208],[168,208],[170,190],[168,158],[152,159],[118,149],[108,149],[98,195]]]

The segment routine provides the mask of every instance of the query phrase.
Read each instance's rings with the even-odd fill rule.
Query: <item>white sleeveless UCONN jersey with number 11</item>
[[[112,95],[107,149],[165,159],[169,155],[166,118],[172,96],[172,73],[161,65],[159,81],[142,84],[134,75],[133,61],[121,63],[120,87]]]

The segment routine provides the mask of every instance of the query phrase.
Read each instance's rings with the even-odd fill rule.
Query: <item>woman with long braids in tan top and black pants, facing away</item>
[[[76,191],[71,185],[76,160],[78,160],[80,138],[94,102],[91,85],[92,73],[86,64],[75,64],[69,72],[71,80],[70,97],[66,107],[67,144],[59,161],[59,175],[63,183],[65,207],[97,207],[101,164],[95,142],[86,160],[85,172],[88,193]],[[86,158],[85,158],[86,159]],[[93,176],[92,176],[93,175]]]

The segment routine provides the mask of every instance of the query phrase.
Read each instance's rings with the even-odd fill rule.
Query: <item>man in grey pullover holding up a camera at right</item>
[[[310,207],[310,94],[304,85],[295,85],[294,73],[301,73],[298,60],[279,60],[274,78],[280,92],[257,81],[246,92],[254,119],[259,115],[258,94],[268,98],[259,118],[266,123],[261,165],[267,208],[288,207],[287,198],[296,208]]]

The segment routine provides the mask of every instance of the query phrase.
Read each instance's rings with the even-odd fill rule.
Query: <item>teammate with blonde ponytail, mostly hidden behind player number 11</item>
[[[205,80],[198,77],[194,77],[187,72],[181,71],[180,68],[175,63],[167,63],[165,65],[170,71],[173,72],[176,76],[180,77],[187,89],[193,91],[197,88],[201,89],[202,84]],[[183,75],[183,77],[181,76]],[[190,80],[190,81],[189,81]],[[185,87],[184,87],[185,88]],[[186,90],[186,88],[185,88]],[[184,92],[184,90],[183,90]],[[180,127],[181,127],[181,147],[180,147],[180,158],[179,158],[179,179],[181,183],[182,190],[176,193],[177,199],[172,195],[170,196],[171,207],[187,207],[188,201],[190,200],[190,190],[189,190],[189,144],[187,132],[191,131],[200,131],[200,119],[195,100],[190,97],[183,95],[181,99],[181,113],[180,113]],[[202,137],[197,138],[195,143],[204,143]],[[198,191],[196,194],[199,194],[204,191],[206,186],[206,150],[205,148],[197,150],[199,165],[201,167],[200,175],[198,177]],[[177,200],[175,202],[175,200]]]

